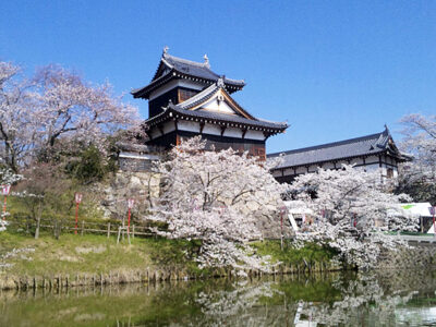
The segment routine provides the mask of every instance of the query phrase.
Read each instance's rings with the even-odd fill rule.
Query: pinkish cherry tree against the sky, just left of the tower
[[[92,85],[58,65],[40,69],[34,81],[39,89],[47,146],[53,146],[63,135],[99,144],[105,135],[140,123],[137,108],[116,97],[109,83]]]

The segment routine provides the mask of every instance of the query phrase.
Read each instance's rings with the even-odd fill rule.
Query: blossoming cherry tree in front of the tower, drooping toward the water
[[[207,152],[199,137],[182,142],[158,166],[165,185],[155,216],[169,225],[164,234],[202,240],[203,266],[266,268],[244,242],[262,237],[259,214],[278,218],[286,186],[269,165],[231,148]]]

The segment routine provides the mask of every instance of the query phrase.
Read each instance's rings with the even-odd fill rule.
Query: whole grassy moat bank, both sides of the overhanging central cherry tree
[[[116,237],[72,233],[64,233],[57,240],[48,232],[43,232],[40,238],[35,240],[24,232],[5,231],[0,233],[0,265],[8,266],[0,268],[0,279],[11,276],[15,279],[69,276],[70,280],[73,280],[78,275],[88,275],[98,276],[101,282],[106,283],[102,274],[132,275],[140,271],[143,274],[140,277],[141,281],[144,278],[159,279],[155,275],[144,275],[144,271],[157,270],[161,279],[165,274],[165,279],[173,278],[168,274],[178,274],[174,278],[179,278],[180,274],[183,275],[182,278],[226,275],[225,269],[197,267],[195,257],[199,245],[197,241],[160,238],[134,238],[131,239],[131,244],[128,244],[126,240],[117,244]],[[326,267],[334,256],[331,251],[314,244],[300,250],[287,244],[281,250],[280,242],[265,241],[253,243],[253,247],[261,255],[270,255],[274,263],[281,262],[284,267],[290,268],[289,271],[281,272],[306,270],[314,264]],[[4,257],[8,253],[10,255]],[[136,281],[135,278],[130,280]],[[40,284],[40,281],[38,283]]]

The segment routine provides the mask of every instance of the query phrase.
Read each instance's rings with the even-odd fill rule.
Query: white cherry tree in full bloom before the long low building
[[[400,206],[400,201],[408,197],[389,193],[378,171],[365,172],[352,166],[319,169],[298,177],[290,192],[316,217],[315,223],[306,226],[308,232],[298,233],[298,239],[337,249],[341,262],[360,268],[374,265],[382,249],[403,244],[383,231],[417,227],[416,217]]]

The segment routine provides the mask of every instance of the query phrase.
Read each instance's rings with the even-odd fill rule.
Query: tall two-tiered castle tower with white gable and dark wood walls
[[[266,140],[288,124],[255,118],[242,108],[230,95],[245,82],[216,74],[204,59],[177,58],[165,48],[152,82],[132,90],[134,98],[148,99],[146,144],[168,149],[183,137],[202,135],[216,150],[231,147],[266,159]]]

